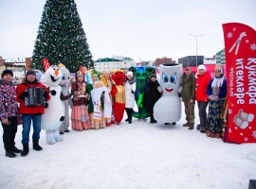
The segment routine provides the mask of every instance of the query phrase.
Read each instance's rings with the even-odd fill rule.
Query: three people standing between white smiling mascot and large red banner
[[[194,104],[197,102],[200,124],[196,129],[212,138],[221,138],[223,119],[221,117],[227,95],[227,79],[224,69],[217,64],[211,78],[205,65],[197,67],[197,76],[187,67],[182,76],[181,98],[185,105],[186,120],[184,127],[194,129]],[[209,105],[209,112],[207,107]]]

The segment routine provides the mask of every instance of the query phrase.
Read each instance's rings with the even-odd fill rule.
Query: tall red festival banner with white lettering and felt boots
[[[223,25],[228,81],[229,141],[256,143],[256,31]]]

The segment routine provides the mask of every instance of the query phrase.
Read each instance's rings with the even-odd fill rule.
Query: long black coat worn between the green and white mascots
[[[153,109],[155,106],[155,102],[161,97],[161,94],[158,92],[157,87],[159,87],[159,83],[157,80],[149,82],[146,85],[147,89],[147,103],[146,103],[146,111],[148,113],[153,113]]]

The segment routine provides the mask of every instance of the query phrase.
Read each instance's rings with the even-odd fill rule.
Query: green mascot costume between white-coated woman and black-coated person
[[[155,74],[155,68],[151,66],[132,66],[129,68],[129,71],[133,72],[134,77],[137,78],[135,98],[138,112],[134,112],[133,116],[145,122],[146,118],[150,116],[150,114],[146,112],[147,94],[145,86],[150,75]]]

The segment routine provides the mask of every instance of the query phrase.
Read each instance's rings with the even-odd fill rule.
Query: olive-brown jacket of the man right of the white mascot
[[[193,74],[191,74],[189,77],[187,77],[186,74],[184,74],[181,77],[181,85],[182,85],[182,92],[181,97],[184,102],[188,102],[191,99],[194,100],[194,91],[195,91],[195,80]]]

